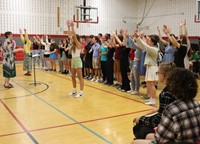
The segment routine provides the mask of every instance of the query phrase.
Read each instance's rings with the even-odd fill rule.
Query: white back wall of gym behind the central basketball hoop
[[[99,24],[80,24],[79,34],[107,33],[126,26],[123,17],[135,15],[135,0],[87,0],[87,6],[99,8]],[[83,5],[83,0],[0,0],[0,33],[7,30],[19,33],[27,28],[30,34],[63,34],[66,20],[75,13],[74,6]],[[60,28],[57,27],[57,7],[60,7]]]

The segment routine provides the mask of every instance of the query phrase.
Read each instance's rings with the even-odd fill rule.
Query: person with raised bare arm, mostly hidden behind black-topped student
[[[182,27],[184,29],[184,34],[183,34],[183,31],[182,31]],[[191,45],[190,45],[190,40],[189,40],[189,36],[188,36],[188,30],[187,30],[187,26],[186,26],[186,19],[184,20],[183,23],[182,22],[180,23],[179,33],[180,33],[180,35],[185,35],[185,37],[186,37],[186,41],[187,41],[187,54],[186,54],[186,56],[184,58],[184,65],[185,65],[186,69],[189,69],[190,68],[190,63],[189,63],[188,52],[191,49]]]

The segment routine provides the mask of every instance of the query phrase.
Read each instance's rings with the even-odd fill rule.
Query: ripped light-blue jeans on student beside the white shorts
[[[131,86],[133,91],[140,88],[140,61],[134,61],[131,71]]]

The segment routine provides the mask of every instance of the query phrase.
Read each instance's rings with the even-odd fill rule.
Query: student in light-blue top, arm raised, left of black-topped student
[[[174,62],[174,46],[172,45],[172,43],[169,41],[165,41],[162,36],[161,36],[161,32],[160,32],[160,28],[157,27],[158,30],[158,35],[160,38],[160,42],[164,44],[165,46],[165,53],[162,59],[162,62]],[[173,34],[170,34],[173,35]]]

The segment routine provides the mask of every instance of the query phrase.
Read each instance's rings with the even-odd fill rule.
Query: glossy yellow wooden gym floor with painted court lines
[[[76,99],[68,96],[70,76],[36,70],[41,85],[34,86],[33,77],[23,74],[17,64],[9,90],[0,77],[0,144],[129,144],[133,118],[154,108],[139,96],[87,80],[84,96]]]

